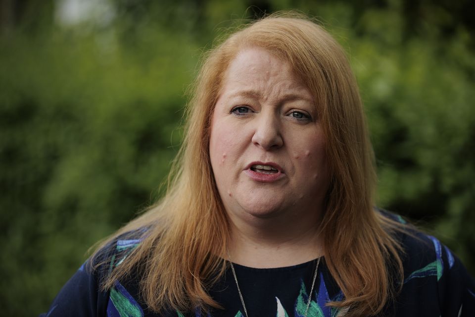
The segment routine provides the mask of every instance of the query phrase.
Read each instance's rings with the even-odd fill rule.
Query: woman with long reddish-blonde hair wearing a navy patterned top
[[[109,238],[47,316],[473,316],[433,237],[375,210],[345,53],[277,14],[205,56],[166,196]]]

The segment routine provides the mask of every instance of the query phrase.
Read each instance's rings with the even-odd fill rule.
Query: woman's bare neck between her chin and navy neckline
[[[323,254],[319,237],[320,213],[288,213],[270,218],[229,214],[234,263],[257,267],[284,267],[305,263]]]

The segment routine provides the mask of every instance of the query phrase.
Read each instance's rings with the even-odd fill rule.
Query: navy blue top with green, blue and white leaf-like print
[[[475,317],[475,282],[459,259],[436,238],[420,232],[417,237],[401,234],[406,251],[402,257],[404,284],[402,291],[386,304],[381,316],[401,317]],[[108,253],[111,267],[133,250],[140,240],[119,239]],[[110,256],[110,254],[112,254]],[[249,317],[303,317],[308,302],[316,261],[280,268],[252,268],[234,264],[239,287]],[[147,310],[138,285],[138,278],[116,281],[110,291],[100,291],[99,281],[106,269],[91,271],[81,266],[63,286],[46,314],[41,317],[198,317],[195,312],[169,311],[158,315]],[[213,310],[212,317],[242,317],[231,269],[212,287],[209,294],[224,307]],[[343,298],[329,273],[325,259],[318,268],[308,317],[341,317],[344,310],[326,307],[329,301]]]

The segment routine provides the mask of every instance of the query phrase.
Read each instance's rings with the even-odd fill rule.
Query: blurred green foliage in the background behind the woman
[[[88,248],[160,196],[200,53],[236,19],[287,8],[318,17],[348,50],[379,205],[422,221],[475,273],[472,4],[116,0],[99,1],[112,10],[105,22],[68,25],[57,17],[61,1],[3,2],[5,316],[46,311]]]

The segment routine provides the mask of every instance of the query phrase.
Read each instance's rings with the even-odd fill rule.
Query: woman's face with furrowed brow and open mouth
[[[228,213],[320,211],[330,173],[315,101],[290,64],[266,50],[245,49],[231,61],[209,154]]]

